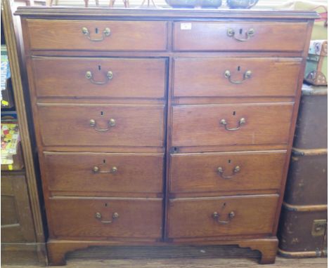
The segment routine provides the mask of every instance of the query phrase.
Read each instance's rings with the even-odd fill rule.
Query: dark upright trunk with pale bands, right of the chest
[[[304,85],[278,229],[284,257],[327,255],[327,88]]]

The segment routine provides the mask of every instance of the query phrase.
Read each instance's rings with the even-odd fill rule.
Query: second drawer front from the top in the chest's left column
[[[164,98],[164,59],[38,57],[32,66],[38,97]]]

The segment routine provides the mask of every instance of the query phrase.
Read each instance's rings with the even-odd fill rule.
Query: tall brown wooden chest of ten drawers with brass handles
[[[49,260],[236,244],[274,262],[316,13],[19,8]]]

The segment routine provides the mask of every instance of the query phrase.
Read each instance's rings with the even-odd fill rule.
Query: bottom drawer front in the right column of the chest
[[[173,199],[169,238],[271,234],[278,195]]]

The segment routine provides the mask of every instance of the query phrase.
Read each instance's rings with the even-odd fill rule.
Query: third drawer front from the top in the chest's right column
[[[291,102],[173,107],[172,146],[286,144]]]

